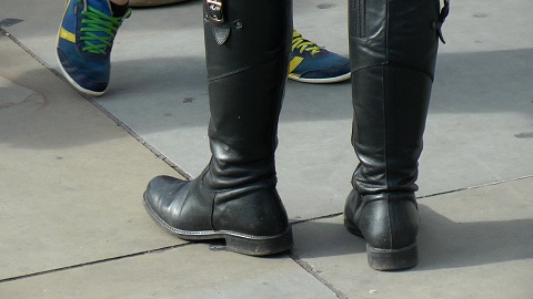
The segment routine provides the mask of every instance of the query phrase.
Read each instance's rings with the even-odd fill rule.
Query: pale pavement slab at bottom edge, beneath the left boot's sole
[[[0,285],[1,298],[338,298],[286,256],[188,245]],[[211,249],[211,250],[210,250]]]

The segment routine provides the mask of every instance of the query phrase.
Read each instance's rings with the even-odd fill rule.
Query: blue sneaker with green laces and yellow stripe
[[[68,0],[59,28],[57,54],[67,80],[80,92],[102,95],[108,89],[114,35],[129,18],[115,18],[109,0]]]

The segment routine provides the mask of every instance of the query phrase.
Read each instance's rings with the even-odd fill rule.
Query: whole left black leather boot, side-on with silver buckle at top
[[[225,239],[229,250],[253,256],[285,251],[292,230],[275,189],[274,151],[292,2],[204,1],[212,158],[191,182],[153,178],[144,205],[182,239]]]

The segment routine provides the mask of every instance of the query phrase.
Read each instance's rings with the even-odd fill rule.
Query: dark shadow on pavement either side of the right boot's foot
[[[420,205],[420,262],[413,271],[462,268],[533,258],[533,219],[455,223]],[[348,233],[343,216],[293,226],[301,259],[365,255],[365,241]]]

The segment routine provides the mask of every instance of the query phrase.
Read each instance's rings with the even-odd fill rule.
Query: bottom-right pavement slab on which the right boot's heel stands
[[[530,298],[533,178],[419,200],[420,264],[380,272],[341,216],[295,224],[295,258],[348,298]]]

